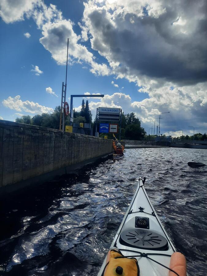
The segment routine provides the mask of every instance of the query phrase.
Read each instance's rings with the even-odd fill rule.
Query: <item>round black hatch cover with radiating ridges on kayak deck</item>
[[[149,250],[167,250],[168,242],[167,240],[150,230],[143,229],[129,229],[121,233],[119,242],[123,245],[149,249]]]

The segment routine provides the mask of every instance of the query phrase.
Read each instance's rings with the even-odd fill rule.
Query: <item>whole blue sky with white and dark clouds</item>
[[[0,119],[60,105],[70,38],[68,102],[105,94],[147,132],[167,111],[161,133],[207,132],[206,0],[1,0],[0,9]],[[88,100],[93,114],[105,106]]]

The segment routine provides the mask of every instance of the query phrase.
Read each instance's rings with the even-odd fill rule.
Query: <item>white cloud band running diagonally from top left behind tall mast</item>
[[[111,73],[105,63],[95,62],[93,54],[80,43],[88,39],[88,28],[86,26],[79,24],[82,29],[80,36],[73,31],[74,23],[70,19],[64,19],[62,12],[55,5],[47,6],[42,0],[18,0],[13,2],[10,5],[7,0],[2,0],[0,13],[2,19],[6,23],[11,23],[24,20],[25,17],[32,17],[37,27],[42,30],[43,37],[40,38],[40,43],[43,44],[46,50],[51,52],[52,58],[58,64],[66,63],[67,38],[70,38],[69,63],[86,62],[91,66],[90,71],[95,75],[109,75]],[[12,16],[13,14],[15,16]],[[36,75],[40,75],[40,72],[36,72]]]

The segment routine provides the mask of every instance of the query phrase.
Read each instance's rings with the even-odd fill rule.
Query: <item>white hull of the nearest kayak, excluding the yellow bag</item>
[[[124,219],[122,220],[122,223],[117,231],[116,236],[114,237],[114,240],[111,244],[111,247],[118,248],[121,253],[125,256],[135,256],[140,255],[141,253],[149,254],[148,257],[151,259],[154,259],[155,261],[162,263],[163,265],[169,267],[170,266],[170,256],[176,251],[169,236],[167,235],[167,232],[165,231],[161,221],[159,220],[159,217],[157,216],[157,213],[152,206],[149,197],[145,191],[143,180],[140,178],[138,182],[138,187],[136,189],[136,192],[132,198],[132,201],[128,207],[128,210],[124,216]],[[139,209],[140,207],[144,207],[144,210]],[[144,211],[144,212],[142,212]],[[144,220],[142,219],[144,218]],[[140,219],[141,218],[141,219]],[[147,220],[146,220],[147,219]],[[141,223],[144,221],[148,221],[148,228],[140,228],[139,225],[136,224],[136,221],[141,220]],[[143,220],[143,221],[142,221]],[[141,225],[141,227],[145,227]],[[124,233],[128,232],[128,235],[125,235]],[[140,240],[138,241],[138,238],[134,238],[133,231],[136,231],[136,233],[143,234],[143,233],[149,233],[148,236],[151,235],[150,232],[153,233],[152,240],[146,241],[142,240],[142,244],[140,244],[140,247],[137,247],[136,244],[140,243]],[[156,235],[155,235],[156,234]],[[122,236],[121,236],[122,235]],[[123,236],[124,235],[124,236]],[[132,237],[131,237],[132,236]],[[147,235],[146,235],[147,236]],[[152,236],[152,235],[151,235]],[[157,238],[157,236],[159,238]],[[159,248],[160,244],[160,237],[163,238],[164,246],[163,248]],[[123,240],[126,238],[126,243]],[[140,237],[140,236],[137,236]],[[143,237],[143,236],[142,236]],[[154,238],[155,237],[155,238]],[[123,239],[122,239],[123,238]],[[145,238],[144,238],[145,239]],[[146,238],[147,239],[147,238]],[[153,240],[154,239],[154,240]],[[138,242],[137,242],[138,241]],[[128,244],[130,242],[130,244]],[[166,246],[167,243],[167,246]],[[132,245],[131,245],[132,244]],[[143,244],[147,244],[148,248],[145,248],[142,246]],[[153,245],[150,245],[153,244]],[[149,246],[148,246],[149,245]],[[139,245],[138,245],[139,246]],[[157,247],[157,249],[156,249]],[[139,253],[137,253],[139,252]],[[164,255],[170,255],[170,256],[164,256],[164,255],[151,255],[152,254],[164,254]],[[161,266],[158,263],[155,263],[154,261],[151,261],[148,258],[139,256],[136,257],[138,261],[138,265],[140,267],[140,276],[168,276],[169,270],[163,266]],[[102,272],[105,267],[106,258],[102,264],[102,267],[98,273],[98,276],[102,275]]]

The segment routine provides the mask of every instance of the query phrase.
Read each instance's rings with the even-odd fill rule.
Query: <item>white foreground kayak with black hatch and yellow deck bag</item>
[[[125,261],[131,258],[132,263],[134,259],[142,276],[168,276],[171,255],[176,250],[149,200],[144,182],[145,178],[139,179],[136,192],[111,244],[110,252],[117,254],[114,259],[119,263],[122,262],[120,258],[125,258]],[[98,276],[105,275],[109,263],[109,258],[106,257]],[[135,275],[126,271],[126,267],[130,266],[122,266],[118,265],[117,269],[114,268],[113,272],[107,275]]]

